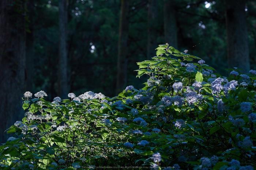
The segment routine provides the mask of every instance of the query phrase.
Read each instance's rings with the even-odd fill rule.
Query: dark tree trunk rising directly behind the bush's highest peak
[[[164,17],[164,31],[165,31],[165,43],[169,43],[170,46],[178,48],[177,40],[177,20],[175,10],[176,0],[165,0],[163,7]]]

